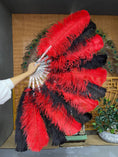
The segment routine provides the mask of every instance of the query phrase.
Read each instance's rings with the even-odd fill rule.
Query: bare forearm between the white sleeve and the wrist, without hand
[[[13,82],[14,86],[17,85],[19,82],[21,82],[22,80],[24,80],[26,77],[28,77],[30,75],[29,72],[25,72],[23,74],[20,74],[18,76],[12,77],[11,81]]]

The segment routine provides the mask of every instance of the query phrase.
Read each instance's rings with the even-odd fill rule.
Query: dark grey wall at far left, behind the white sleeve
[[[12,18],[0,2],[0,79],[13,76]],[[13,130],[12,99],[0,105],[0,145]]]

